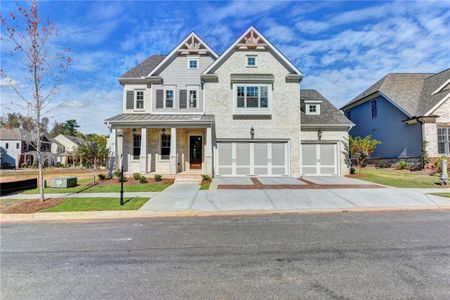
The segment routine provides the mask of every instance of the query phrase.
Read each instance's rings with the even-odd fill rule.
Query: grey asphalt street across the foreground
[[[450,211],[1,225],[2,299],[450,299]]]

